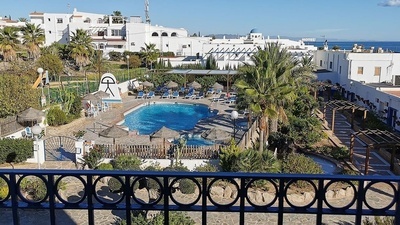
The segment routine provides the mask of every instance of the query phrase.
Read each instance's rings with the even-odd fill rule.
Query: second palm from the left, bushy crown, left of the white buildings
[[[40,55],[40,46],[45,41],[44,30],[40,25],[26,23],[22,28],[23,44],[28,50],[29,58],[36,60]]]

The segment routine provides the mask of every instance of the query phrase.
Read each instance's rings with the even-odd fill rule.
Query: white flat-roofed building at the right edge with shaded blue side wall
[[[400,53],[382,49],[318,50],[314,63],[319,80],[342,87],[342,96],[375,111],[400,130]]]

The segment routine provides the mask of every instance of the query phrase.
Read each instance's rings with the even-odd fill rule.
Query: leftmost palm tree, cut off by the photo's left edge
[[[13,61],[17,58],[17,48],[20,44],[18,40],[18,29],[15,27],[4,27],[0,30],[0,54],[4,61]]]

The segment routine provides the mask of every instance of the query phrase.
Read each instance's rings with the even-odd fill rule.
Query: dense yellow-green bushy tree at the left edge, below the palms
[[[32,84],[32,79],[26,75],[0,76],[0,118],[39,107],[40,92],[32,89]]]

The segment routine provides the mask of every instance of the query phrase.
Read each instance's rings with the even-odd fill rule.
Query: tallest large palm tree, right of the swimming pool
[[[259,151],[269,136],[269,120],[287,121],[284,106],[295,98],[292,71],[297,66],[286,49],[277,43],[267,44],[252,56],[253,64],[245,64],[244,76],[235,86],[242,90],[249,108],[260,118]]]

